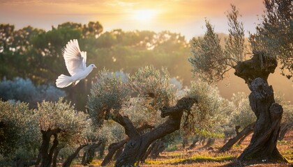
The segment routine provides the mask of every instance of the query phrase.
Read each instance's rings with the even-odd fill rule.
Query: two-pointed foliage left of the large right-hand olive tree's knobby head
[[[243,24],[238,21],[238,17],[238,10],[232,6],[232,12],[227,14],[230,29],[224,48],[220,46],[220,38],[208,21],[204,37],[190,40],[192,56],[188,61],[193,65],[193,73],[204,81],[211,83],[223,79],[225,72],[237,62],[245,60],[247,46],[244,43]]]

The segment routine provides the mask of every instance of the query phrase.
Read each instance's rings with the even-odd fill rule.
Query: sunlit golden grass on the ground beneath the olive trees
[[[239,157],[241,152],[250,142],[250,136],[239,146],[225,153],[218,153],[218,149],[223,145],[223,141],[216,141],[213,148],[209,150],[201,149],[202,145],[197,145],[193,150],[180,148],[172,152],[163,152],[158,159],[147,159],[142,167],[168,167],[168,166],[227,166]],[[293,167],[293,130],[284,138],[284,141],[278,142],[278,150],[283,156],[290,161],[289,164],[254,164],[249,166],[292,166]],[[99,166],[103,159],[95,159],[92,166]],[[78,165],[77,165],[78,166]],[[114,162],[108,166],[114,166]],[[239,165],[232,165],[239,166]]]

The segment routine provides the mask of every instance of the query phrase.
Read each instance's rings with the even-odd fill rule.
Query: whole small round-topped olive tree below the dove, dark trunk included
[[[81,140],[84,128],[88,127],[87,115],[77,112],[70,103],[41,102],[36,110],[36,120],[42,135],[38,161],[40,166],[51,166],[54,151],[60,142]]]

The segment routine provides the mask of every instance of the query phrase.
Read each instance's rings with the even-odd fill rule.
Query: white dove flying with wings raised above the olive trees
[[[77,40],[70,40],[63,49],[63,57],[66,68],[71,76],[61,74],[56,79],[56,86],[58,88],[65,88],[70,84],[76,85],[81,79],[85,79],[91,73],[96,65],[91,64],[86,66],[87,52],[80,51]]]

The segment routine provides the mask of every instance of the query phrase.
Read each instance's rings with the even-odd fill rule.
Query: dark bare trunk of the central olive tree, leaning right
[[[121,125],[126,125],[124,128],[127,129],[126,132],[130,140],[126,143],[123,153],[117,159],[115,166],[134,166],[135,163],[138,164],[153,141],[180,128],[183,111],[190,109],[195,102],[197,101],[193,98],[183,97],[175,106],[163,107],[161,117],[169,116],[168,119],[146,134],[140,135],[136,130],[131,130],[133,125],[127,119],[127,123],[120,123]]]

